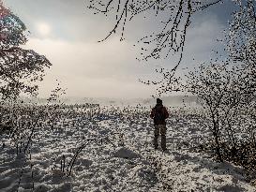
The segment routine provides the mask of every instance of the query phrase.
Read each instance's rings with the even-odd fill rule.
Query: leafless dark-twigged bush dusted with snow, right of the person
[[[202,64],[188,74],[187,90],[198,96],[210,124],[209,146],[218,160],[228,160],[247,170],[255,169],[255,81],[250,68]]]

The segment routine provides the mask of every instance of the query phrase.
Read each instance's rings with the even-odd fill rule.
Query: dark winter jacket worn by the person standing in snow
[[[160,114],[161,118],[157,116]],[[150,117],[154,119],[154,125],[166,125],[165,119],[169,117],[169,113],[162,104],[157,104],[155,108],[152,109]]]

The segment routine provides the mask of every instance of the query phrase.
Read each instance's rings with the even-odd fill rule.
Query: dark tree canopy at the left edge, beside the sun
[[[0,1],[0,96],[16,98],[36,94],[45,67],[52,64],[43,55],[21,48],[27,42],[26,27]]]

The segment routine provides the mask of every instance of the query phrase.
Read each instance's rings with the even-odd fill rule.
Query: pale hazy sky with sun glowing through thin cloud
[[[88,1],[88,0],[87,0]],[[113,20],[94,15],[85,0],[5,0],[31,32],[26,49],[44,54],[53,64],[42,83],[39,96],[49,96],[55,80],[68,88],[67,96],[149,97],[155,88],[138,79],[158,78],[156,66],[173,66],[173,58],[138,62],[133,44],[146,32],[156,31],[152,20],[128,23],[126,40],[113,36],[97,41],[113,28]],[[221,46],[221,37],[232,10],[230,1],[216,6],[195,18],[188,30],[185,56],[181,67],[194,66],[211,57]],[[193,60],[194,58],[194,60]]]

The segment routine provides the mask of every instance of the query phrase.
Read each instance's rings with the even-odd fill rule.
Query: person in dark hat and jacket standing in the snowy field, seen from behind
[[[158,136],[161,134],[161,148],[163,151],[166,150],[166,122],[165,120],[169,117],[169,113],[166,108],[162,105],[162,100],[157,98],[157,105],[152,109],[150,113],[151,119],[154,119],[155,126],[155,138],[154,146],[158,149]]]

